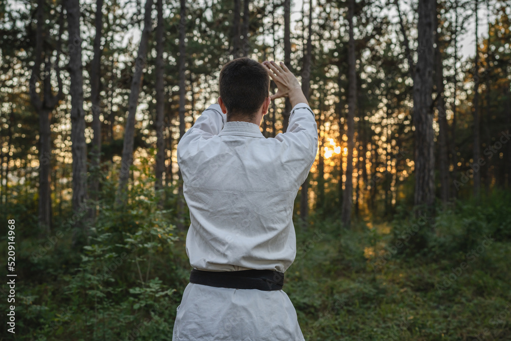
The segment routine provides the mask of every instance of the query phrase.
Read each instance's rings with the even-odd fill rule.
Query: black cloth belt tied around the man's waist
[[[204,271],[192,269],[190,283],[217,288],[282,290],[284,273],[274,270]]]

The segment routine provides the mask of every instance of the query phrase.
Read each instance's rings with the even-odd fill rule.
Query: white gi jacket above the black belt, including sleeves
[[[224,124],[218,104],[203,115],[210,117],[197,120],[178,147],[191,218],[191,265],[286,271],[296,255],[294,199],[317,152],[312,111],[296,105],[288,132],[270,139],[252,123]],[[216,127],[224,125],[218,135],[200,131],[203,121],[211,126],[213,120]]]

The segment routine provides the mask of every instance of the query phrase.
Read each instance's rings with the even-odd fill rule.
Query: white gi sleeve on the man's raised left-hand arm
[[[210,105],[202,111],[193,127],[184,133],[177,145],[178,163],[185,155],[193,155],[205,140],[218,135],[227,121],[227,115],[222,112],[218,103]]]

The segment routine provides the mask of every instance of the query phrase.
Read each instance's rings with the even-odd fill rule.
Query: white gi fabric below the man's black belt
[[[177,307],[173,341],[305,341],[283,290],[189,283]]]

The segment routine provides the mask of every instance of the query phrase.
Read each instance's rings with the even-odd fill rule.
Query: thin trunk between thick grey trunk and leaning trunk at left
[[[94,57],[90,62],[90,101],[92,104],[92,130],[94,138],[92,138],[91,168],[95,172],[99,172],[101,163],[101,106],[100,106],[100,81],[101,81],[101,36],[103,31],[103,0],[96,2],[96,16],[94,18],[94,27],[96,35],[94,37],[93,50]],[[99,176],[98,173],[90,177],[89,197],[97,200],[99,197]],[[90,218],[96,217],[96,205],[90,209]]]

